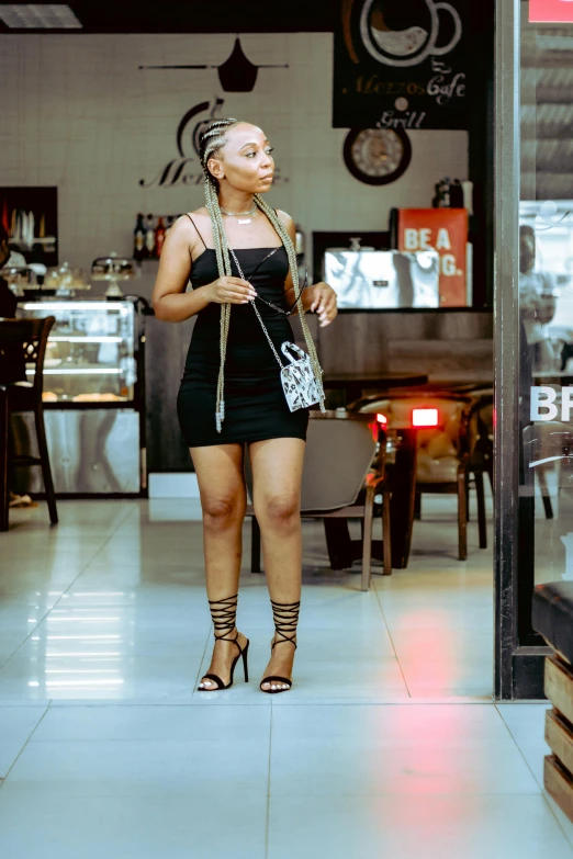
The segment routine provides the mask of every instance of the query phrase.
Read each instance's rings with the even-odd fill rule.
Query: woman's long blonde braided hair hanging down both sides
[[[225,234],[225,225],[223,223],[223,215],[218,204],[218,183],[215,177],[210,172],[207,163],[209,159],[213,157],[225,144],[225,131],[238,125],[239,120],[215,120],[210,123],[206,131],[201,135],[199,151],[203,170],[205,172],[205,203],[209,214],[211,215],[211,225],[213,228],[213,244],[215,246],[215,256],[217,260],[218,276],[232,276],[231,257],[228,252],[228,242]],[[301,289],[299,283],[299,264],[296,261],[296,251],[292,239],[286,231],[286,228],[277,212],[269,206],[269,204],[259,195],[254,195],[254,202],[260,208],[261,212],[267,215],[270,223],[277,230],[286,256],[289,258],[289,269],[291,272],[292,284],[294,287],[294,295],[296,297],[296,307],[299,309],[299,316],[301,319],[301,326],[303,329],[304,341],[308,350],[308,357],[311,359],[311,366],[313,369],[314,377],[321,392],[321,409],[324,411],[324,393],[323,393],[323,371],[318,363],[318,355],[316,354],[316,348],[313,342],[313,338],[308,330],[308,324],[304,313],[304,307],[301,297]],[[227,339],[228,328],[231,323],[231,304],[221,305],[221,325],[220,325],[220,354],[221,363],[218,368],[217,378],[217,394],[216,394],[216,408],[215,408],[215,421],[217,432],[221,432],[223,421],[225,420],[225,359],[227,352]]]

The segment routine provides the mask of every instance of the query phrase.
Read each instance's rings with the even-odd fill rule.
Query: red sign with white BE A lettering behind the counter
[[[468,304],[465,208],[398,210],[398,250],[434,248],[440,255],[440,307]]]

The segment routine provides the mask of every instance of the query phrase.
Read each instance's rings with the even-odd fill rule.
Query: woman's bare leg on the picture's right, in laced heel
[[[260,525],[265,570],[273,603],[294,607],[301,599],[301,479],[305,443],[301,439],[269,439],[250,445],[252,493]],[[279,609],[288,630],[277,645],[265,677],[291,677],[297,610]],[[271,683],[263,683],[270,689]]]

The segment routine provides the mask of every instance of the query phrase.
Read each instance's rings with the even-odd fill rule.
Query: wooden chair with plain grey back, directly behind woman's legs
[[[301,489],[303,519],[322,519],[327,527],[346,527],[346,520],[360,519],[362,539],[357,553],[362,560],[362,590],[371,580],[372,525],[382,498],[384,574],[392,573],[390,544],[390,494],[385,482],[386,434],[371,415],[311,411]],[[252,498],[252,474],[247,464],[246,479]],[[251,505],[251,570],[260,572],[260,530]]]

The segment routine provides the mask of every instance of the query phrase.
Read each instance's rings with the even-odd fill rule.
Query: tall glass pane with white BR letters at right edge
[[[573,24],[529,12],[521,3],[519,567],[532,585],[573,578]]]

